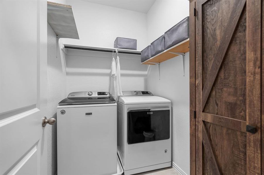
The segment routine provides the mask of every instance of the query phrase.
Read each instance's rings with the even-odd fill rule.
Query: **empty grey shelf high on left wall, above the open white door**
[[[79,39],[70,5],[47,1],[47,22],[60,38]]]

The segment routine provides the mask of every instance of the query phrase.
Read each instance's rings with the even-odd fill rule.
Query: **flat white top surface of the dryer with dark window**
[[[118,101],[122,104],[162,104],[171,103],[170,100],[158,96],[120,96]]]

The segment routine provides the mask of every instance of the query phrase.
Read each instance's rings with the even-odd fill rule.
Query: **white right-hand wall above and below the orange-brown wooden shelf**
[[[173,25],[189,16],[187,0],[156,0],[147,13],[147,41],[151,43]],[[173,163],[190,174],[189,137],[189,53],[185,55],[185,76],[180,56],[162,62],[161,80],[157,66],[151,66],[147,89],[154,95],[170,99],[173,118]]]

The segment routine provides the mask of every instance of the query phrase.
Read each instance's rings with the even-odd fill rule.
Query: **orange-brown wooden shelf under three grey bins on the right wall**
[[[161,63],[163,61],[166,61],[166,60],[169,60],[171,58],[178,56],[177,54],[170,53],[170,52],[174,52],[174,53],[175,52],[178,52],[178,53],[189,52],[189,38],[178,43],[178,44],[176,44],[175,46],[172,46],[171,48],[168,48],[167,50],[164,50],[163,52],[149,58],[148,60],[142,62],[141,64],[154,65],[152,63]]]

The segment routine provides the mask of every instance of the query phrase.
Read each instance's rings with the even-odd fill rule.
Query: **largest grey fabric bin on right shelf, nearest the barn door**
[[[189,16],[165,32],[165,49],[189,38]]]

